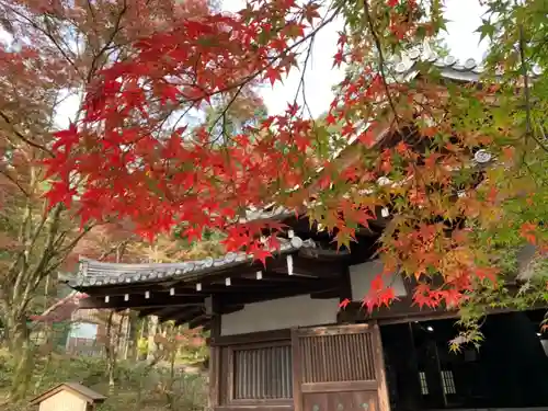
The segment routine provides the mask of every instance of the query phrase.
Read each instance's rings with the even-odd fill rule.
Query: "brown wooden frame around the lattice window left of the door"
[[[279,397],[279,398],[237,398],[236,392],[238,389],[237,386],[237,363],[236,355],[237,352],[251,352],[255,350],[267,350],[267,349],[278,349],[286,347],[287,354],[289,355],[288,364],[286,364],[286,368],[281,370],[286,373],[283,375],[284,378],[289,378],[289,380],[283,381],[282,387],[278,386],[281,391],[285,391],[288,393],[288,397]],[[292,342],[290,340],[278,340],[271,342],[261,342],[261,343],[249,343],[249,344],[238,344],[238,345],[229,345],[227,346],[227,369],[226,373],[222,370],[224,377],[222,379],[226,381],[226,401],[228,406],[258,406],[258,404],[267,404],[267,406],[293,406],[293,359],[292,359]],[[261,355],[261,354],[259,354]],[[267,355],[267,354],[263,354]],[[276,361],[276,359],[274,359]],[[251,365],[253,367],[253,365]],[[254,367],[253,367],[254,368]],[[265,373],[264,369],[254,368],[253,372],[256,373]],[[242,384],[256,384],[258,376],[252,374],[251,381],[246,381],[246,377],[243,377]],[[270,384],[270,383],[267,383]],[[283,387],[285,386],[285,387]],[[241,389],[246,390],[254,390],[261,389],[260,387],[242,387]]]

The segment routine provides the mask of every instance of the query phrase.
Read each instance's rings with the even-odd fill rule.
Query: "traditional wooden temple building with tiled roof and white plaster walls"
[[[412,76],[422,57],[454,81],[481,71],[473,60],[458,65],[426,52],[411,53],[396,70]],[[420,309],[413,284],[397,273],[398,301],[372,313],[361,307],[383,270],[375,251],[386,213],[340,252],[328,232],[284,209],[250,218],[288,227],[264,266],[243,252],[170,264],[82,259],[70,285],[89,296],[82,308],[130,308],[209,329],[214,411],[548,407],[548,357],[538,334],[544,311],[493,312],[479,350],[450,352],[457,312]],[[345,299],[352,302],[342,309]]]

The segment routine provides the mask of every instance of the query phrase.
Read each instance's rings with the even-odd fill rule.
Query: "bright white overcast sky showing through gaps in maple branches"
[[[239,11],[243,8],[244,0],[224,0],[222,8],[227,11]],[[444,35],[445,42],[455,57],[461,61],[467,58],[480,60],[486,52],[486,44],[478,44],[479,35],[473,33],[481,23],[482,9],[478,0],[447,0],[445,18],[448,33]],[[331,88],[342,80],[342,71],[333,69],[333,55],[341,21],[335,21],[323,27],[316,37],[311,59],[305,75],[306,98],[316,117],[327,111],[333,98]],[[2,38],[4,37],[4,38]],[[0,33],[0,41],[5,39],[5,33]],[[300,72],[294,69],[284,79],[283,84],[277,82],[274,89],[265,85],[262,96],[270,114],[282,113],[288,101],[295,99],[295,93],[300,80]],[[78,106],[78,98],[69,98],[59,106],[57,124],[66,127],[69,118],[73,116]]]

